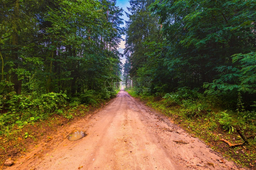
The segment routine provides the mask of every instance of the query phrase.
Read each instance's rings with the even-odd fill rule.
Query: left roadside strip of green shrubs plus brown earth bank
[[[30,96],[13,94],[7,101],[9,107],[1,109],[0,162],[19,158],[30,144],[36,146],[41,139],[50,141],[56,129],[99,109],[117,93],[117,90],[88,90],[70,100],[64,93],[51,92],[32,101]]]

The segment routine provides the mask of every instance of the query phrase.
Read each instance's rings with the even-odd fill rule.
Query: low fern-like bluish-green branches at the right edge
[[[237,66],[218,67],[220,77],[219,79],[213,80],[212,83],[204,84],[204,87],[207,88],[205,93],[226,98],[230,98],[230,96],[232,96],[239,100],[238,104],[240,107],[243,107],[242,105],[245,104],[245,102],[246,104],[252,105],[252,98],[256,94],[255,58],[256,53],[233,55],[232,61],[237,64]],[[247,94],[247,101],[242,101],[245,94]]]

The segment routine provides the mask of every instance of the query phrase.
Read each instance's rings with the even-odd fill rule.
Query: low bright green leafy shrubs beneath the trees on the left
[[[66,107],[67,96],[63,93],[43,94],[40,98],[30,99],[31,96],[10,93],[3,104],[8,111],[0,115],[0,125],[6,126],[17,123],[22,128],[28,123],[34,123],[51,112],[61,114],[59,109]],[[32,101],[31,101],[32,100]]]

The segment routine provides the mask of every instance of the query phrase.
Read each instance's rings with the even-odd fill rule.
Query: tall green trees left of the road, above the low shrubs
[[[115,0],[36,0],[17,8],[2,3],[0,94],[4,97],[13,90],[33,98],[60,91],[74,96],[102,89],[108,77],[120,73],[123,9],[115,6]],[[13,8],[18,10],[15,16]],[[18,20],[23,22],[15,27]],[[12,44],[15,28],[19,45]]]

